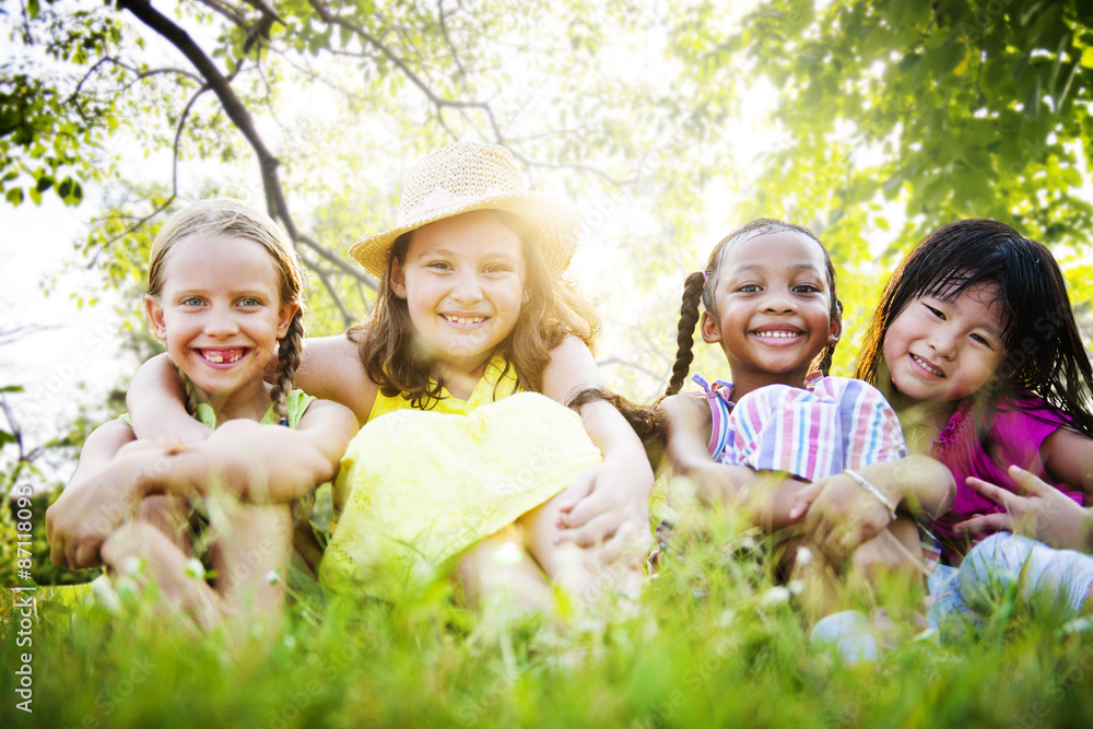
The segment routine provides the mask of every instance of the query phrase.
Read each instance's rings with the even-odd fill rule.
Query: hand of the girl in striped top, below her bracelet
[[[794,499],[789,517],[803,517],[806,534],[836,564],[892,521],[888,507],[846,473],[804,486]]]

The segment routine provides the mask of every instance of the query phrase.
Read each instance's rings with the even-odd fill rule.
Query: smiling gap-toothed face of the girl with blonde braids
[[[262,373],[298,308],[281,304],[270,254],[248,238],[190,235],[163,267],[146,307],[172,361],[218,411],[265,397]]]

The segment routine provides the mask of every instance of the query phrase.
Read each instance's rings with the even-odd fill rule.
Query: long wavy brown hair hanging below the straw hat
[[[573,286],[550,271],[531,227],[522,219],[501,210],[487,212],[520,236],[527,271],[528,301],[520,307],[516,326],[497,346],[497,353],[505,357],[506,373],[509,367],[516,371],[522,389],[541,392],[542,373],[550,364],[551,351],[569,334],[591,348],[599,332],[599,319]],[[387,397],[401,393],[414,408],[428,410],[440,399],[444,383],[435,362],[414,344],[406,299],[391,290],[393,264],[406,262],[412,235],[413,232],[406,233],[395,242],[372,316],[350,328],[349,337],[356,342],[361,363],[380,392]]]

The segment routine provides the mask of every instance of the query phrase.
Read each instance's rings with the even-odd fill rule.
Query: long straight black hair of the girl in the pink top
[[[1059,264],[1043,244],[998,221],[955,221],[915,246],[884,289],[855,376],[894,393],[884,365],[892,321],[919,296],[953,299],[976,285],[996,287],[1007,351],[1000,376],[974,395],[977,402],[989,415],[1002,401],[1020,408],[1021,391],[1031,391],[1093,437],[1093,372]]]

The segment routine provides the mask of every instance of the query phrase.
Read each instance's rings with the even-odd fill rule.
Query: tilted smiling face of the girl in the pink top
[[[968,286],[955,298],[913,298],[884,334],[892,384],[919,402],[953,402],[987,385],[1006,360],[994,285]]]

